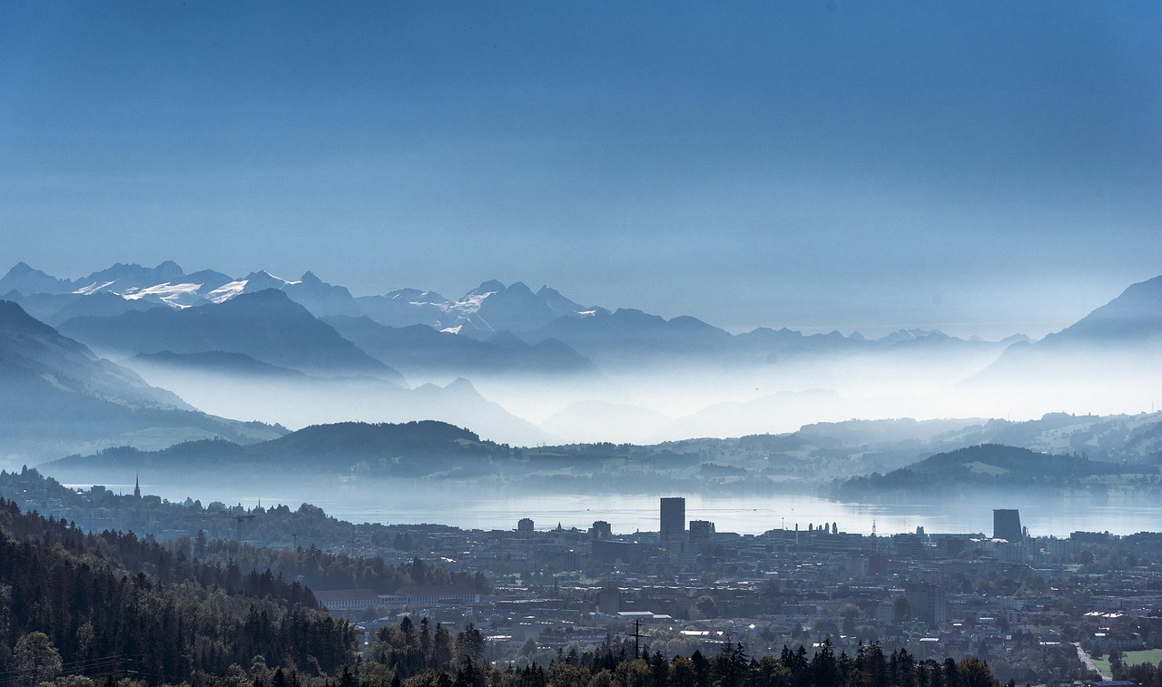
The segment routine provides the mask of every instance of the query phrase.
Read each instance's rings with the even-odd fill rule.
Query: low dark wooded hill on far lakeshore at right
[[[981,444],[937,453],[887,474],[871,473],[837,481],[840,499],[891,495],[946,495],[954,492],[1005,489],[1104,489],[1110,484],[1133,482],[1159,489],[1159,468],[1118,465],[1082,456],[1039,453],[1003,444]]]

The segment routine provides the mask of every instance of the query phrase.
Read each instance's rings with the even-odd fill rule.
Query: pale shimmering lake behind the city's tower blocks
[[[110,485],[114,491],[131,492],[132,485]],[[610,523],[615,534],[658,531],[658,499],[686,496],[686,520],[708,520],[718,531],[761,534],[787,527],[808,529],[823,523],[838,523],[840,531],[870,535],[914,532],[923,527],[935,532],[992,534],[992,509],[1017,508],[1021,524],[1032,536],[1068,537],[1074,531],[1110,531],[1129,535],[1139,531],[1162,531],[1162,504],[1142,500],[1091,500],[1089,496],[1031,499],[975,499],[940,503],[842,503],[806,494],[779,495],[700,495],[700,494],[595,494],[528,495],[430,488],[407,489],[347,486],[321,493],[302,488],[261,489],[221,485],[213,489],[188,486],[142,484],[144,493],[158,494],[171,501],[186,496],[201,499],[203,504],[222,501],[229,506],[286,503],[297,508],[309,502],[329,515],[357,523],[385,524],[439,523],[464,529],[515,529],[522,517],[532,518],[536,529],[546,530],[560,523],[565,528],[588,529],[596,520]]]

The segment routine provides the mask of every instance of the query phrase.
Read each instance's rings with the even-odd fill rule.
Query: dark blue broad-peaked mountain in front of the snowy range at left
[[[395,382],[403,380],[399,372],[274,289],[195,308],[74,317],[64,322],[60,330],[96,349],[124,356],[222,351],[310,374],[367,374]]]

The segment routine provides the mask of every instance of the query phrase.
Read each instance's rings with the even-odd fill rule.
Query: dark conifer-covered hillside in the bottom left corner
[[[0,594],[0,677],[19,684],[59,674],[200,684],[256,657],[332,674],[354,658],[354,630],[299,582],[134,534],[85,535],[3,499]]]

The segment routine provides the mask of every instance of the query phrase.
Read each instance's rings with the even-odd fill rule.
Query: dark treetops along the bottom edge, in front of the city
[[[754,658],[743,644],[725,643],[709,658],[701,651],[667,658],[609,638],[593,651],[559,650],[548,666],[521,668],[482,661],[482,644],[472,625],[453,639],[443,625],[406,618],[379,630],[350,680],[390,687],[998,687],[980,658],[917,660],[904,649],[884,654],[876,643],[861,644],[855,656],[824,642],[810,656],[801,645]]]

